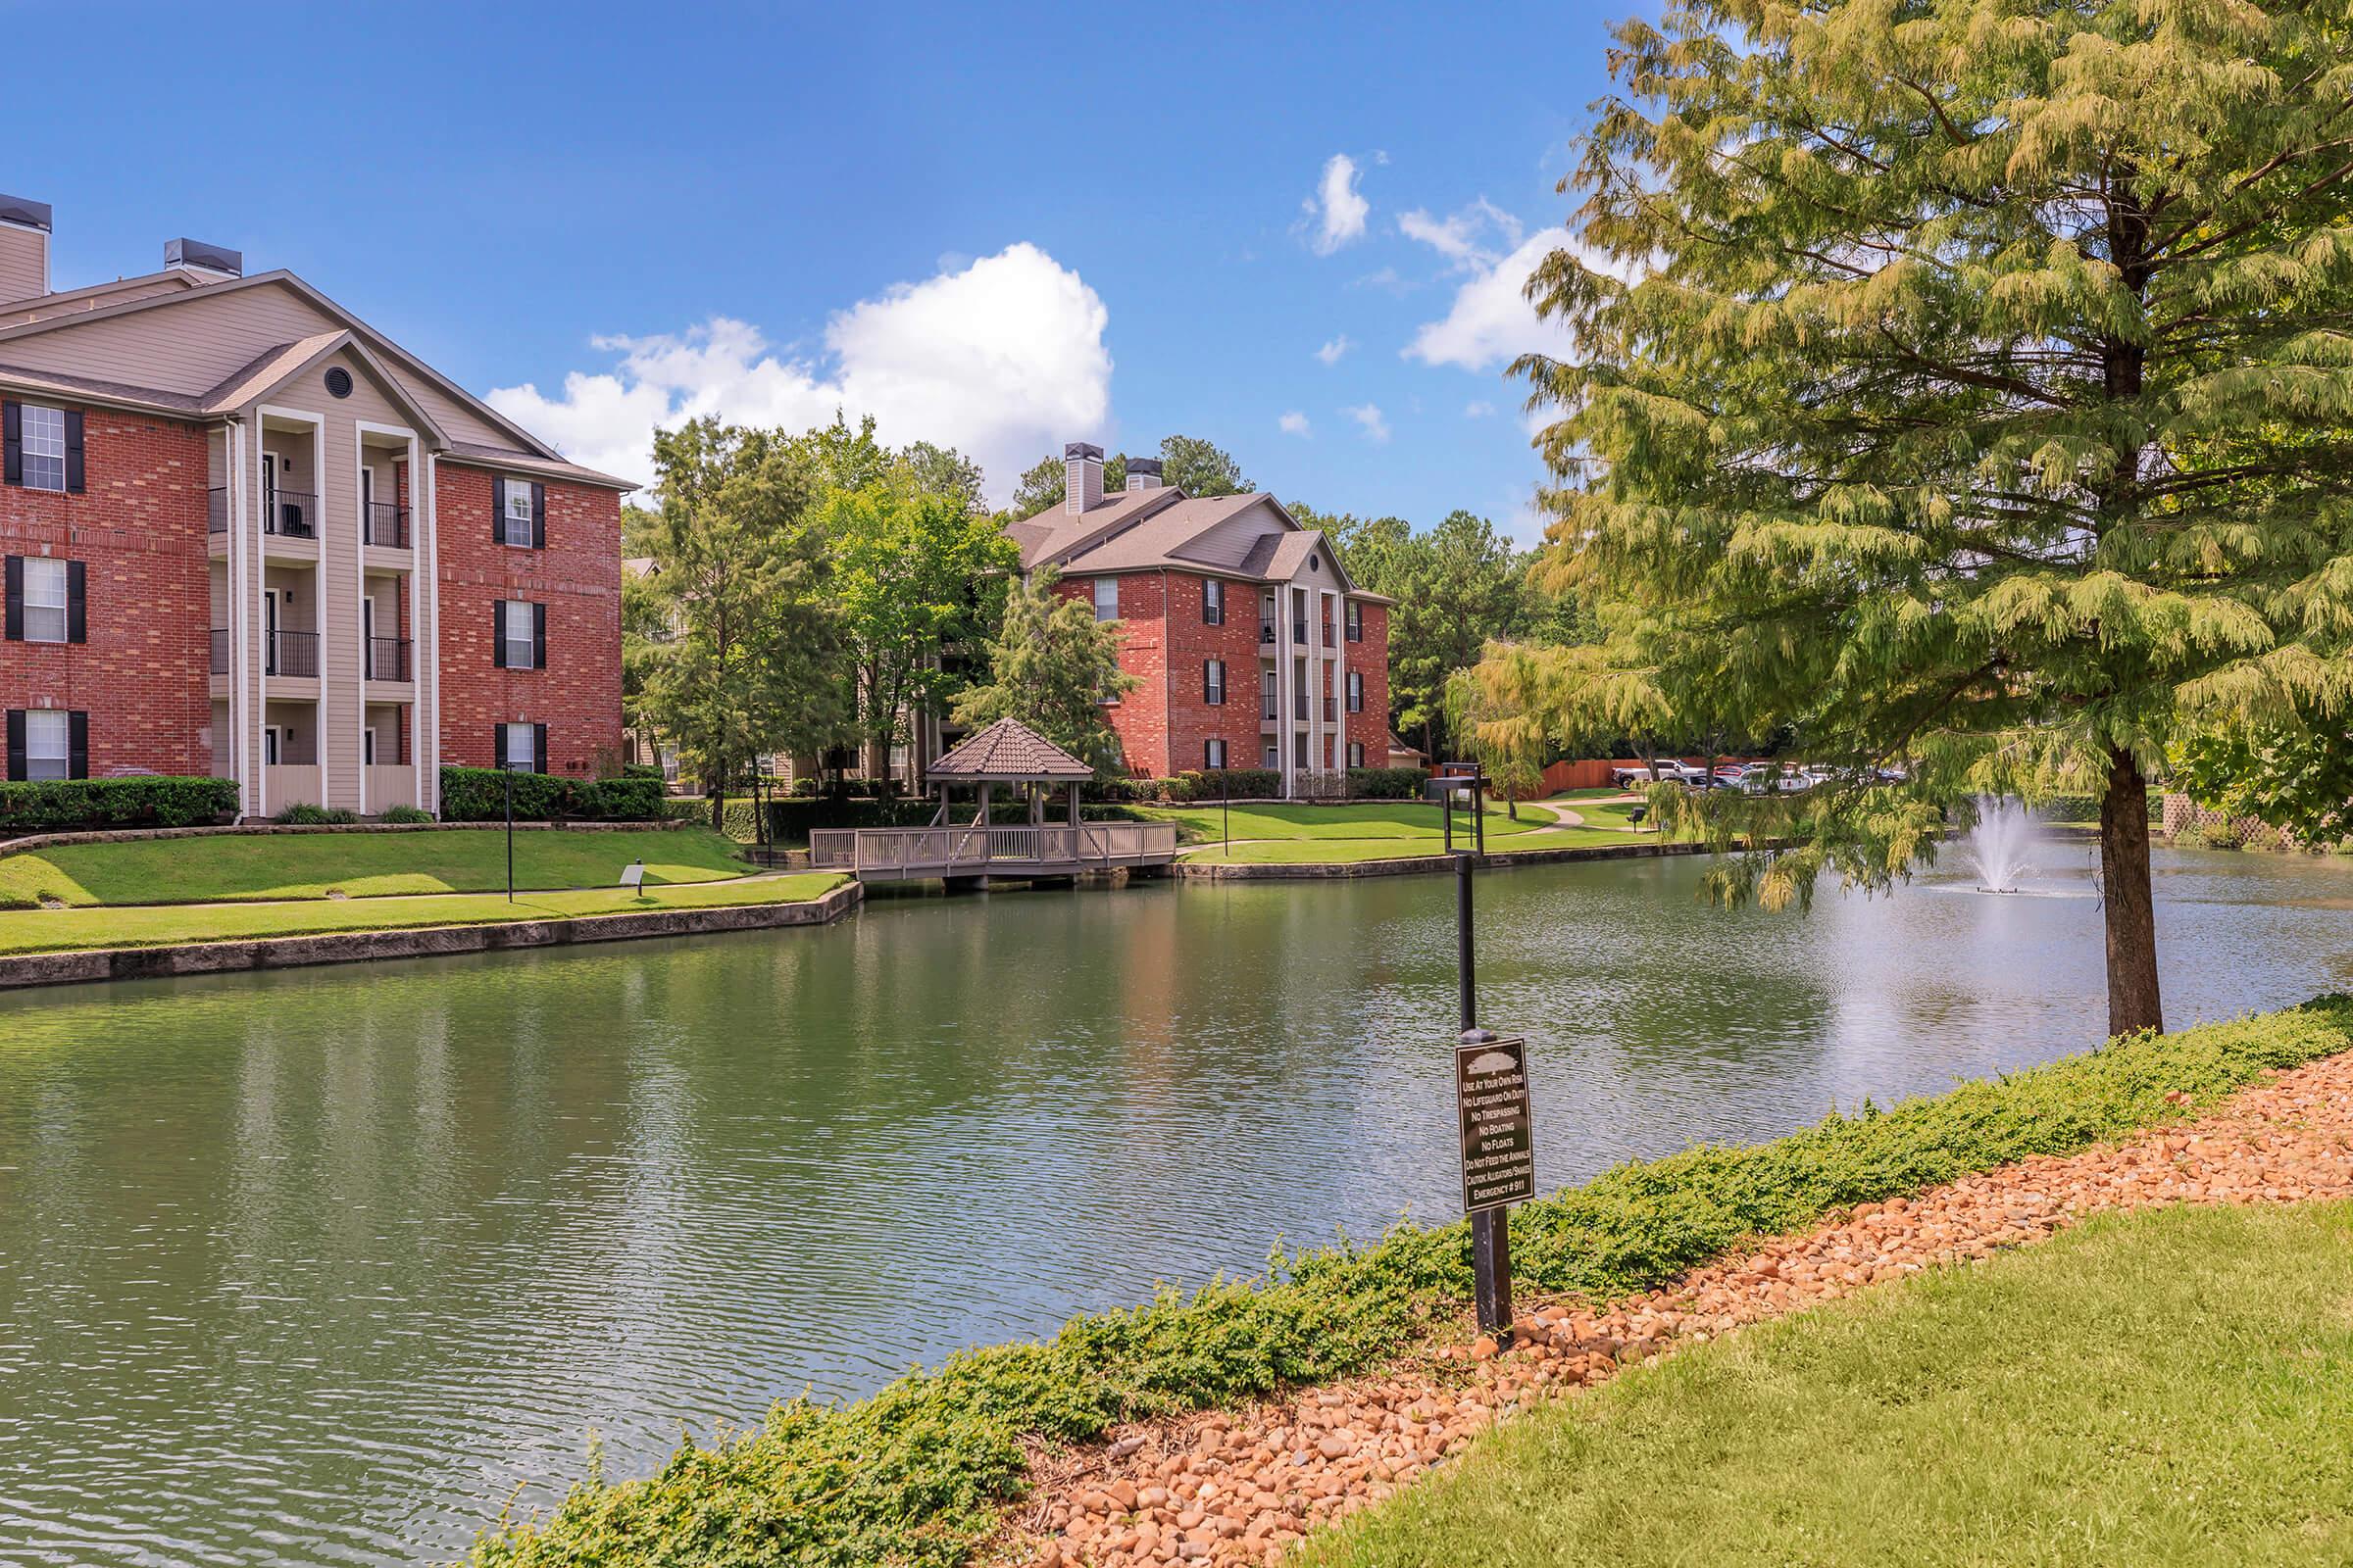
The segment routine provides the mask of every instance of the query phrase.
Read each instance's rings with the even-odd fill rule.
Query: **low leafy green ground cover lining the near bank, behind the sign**
[[[1755,1147],[1701,1145],[1605,1171],[1511,1213],[1513,1274],[1612,1298],[1675,1279],[1748,1237],[1812,1225],[2028,1154],[2212,1105],[2268,1067],[2353,1048],[2353,997],[2134,1034],[2087,1056],[1965,1084]],[[1024,1441],[1085,1443],[1158,1413],[1257,1399],[1377,1366],[1471,1293],[1466,1225],[1400,1227],[1377,1246],[1271,1258],[1264,1281],[1071,1319],[1042,1345],[995,1345],[873,1399],[776,1406],[659,1474],[584,1483],[541,1523],[485,1535],[478,1568],[953,1568],[1024,1483]]]

